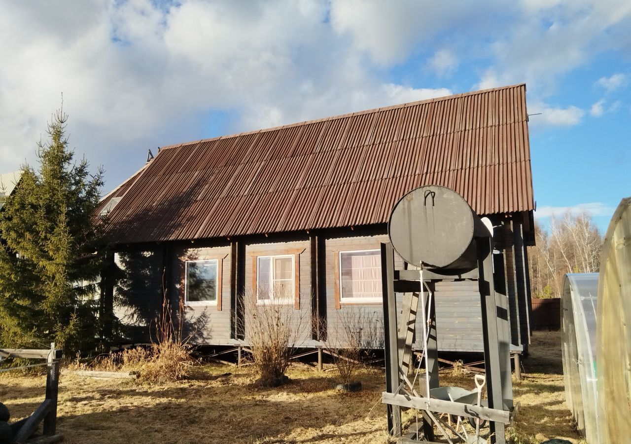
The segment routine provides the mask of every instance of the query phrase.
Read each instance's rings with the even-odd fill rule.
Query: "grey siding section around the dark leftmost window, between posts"
[[[184,304],[185,337],[194,344],[231,344],[230,340],[230,246],[177,248],[171,265],[170,303],[174,313],[184,302],[185,264],[187,260],[218,260],[221,264],[221,292],[217,304]]]

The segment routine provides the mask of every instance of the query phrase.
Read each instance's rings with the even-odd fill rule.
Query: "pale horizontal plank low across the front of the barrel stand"
[[[488,421],[504,424],[509,424],[511,419],[509,411],[433,398],[395,395],[394,393],[388,392],[381,393],[381,402],[383,404],[399,405],[399,407],[409,407],[410,409],[428,410],[430,412],[449,413],[473,418],[479,417],[481,419],[487,419]]]

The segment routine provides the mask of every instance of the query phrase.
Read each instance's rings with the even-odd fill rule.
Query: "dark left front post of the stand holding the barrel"
[[[399,353],[397,348],[396,294],[394,294],[394,249],[381,244],[381,279],[384,296],[384,336],[386,353],[386,392],[399,392]],[[401,436],[401,407],[386,404],[388,433]]]

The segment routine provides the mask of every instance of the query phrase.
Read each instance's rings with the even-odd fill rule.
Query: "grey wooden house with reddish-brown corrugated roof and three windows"
[[[394,203],[424,184],[495,226],[496,289],[522,351],[534,244],[524,84],[162,147],[103,199],[118,264],[103,297],[135,326],[129,341],[148,335],[163,294],[195,320],[198,344],[239,344],[245,294],[324,325],[305,347],[353,313],[379,330],[378,249]],[[435,291],[439,349],[483,351],[477,283]]]

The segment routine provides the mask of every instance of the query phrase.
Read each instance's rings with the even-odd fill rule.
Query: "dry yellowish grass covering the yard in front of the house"
[[[579,436],[563,404],[560,337],[537,334],[524,381],[515,385],[521,443]],[[230,373],[229,375],[227,373]],[[260,388],[252,368],[194,368],[192,380],[160,384],[93,380],[64,375],[58,428],[64,442],[160,443],[384,443],[384,374],[361,369],[363,390],[332,388],[336,375],[290,367],[292,383]],[[441,374],[443,385],[473,388],[473,375]],[[30,414],[44,397],[44,377],[0,375],[0,400],[14,418]],[[528,441],[526,439],[536,439]]]

